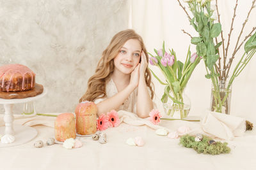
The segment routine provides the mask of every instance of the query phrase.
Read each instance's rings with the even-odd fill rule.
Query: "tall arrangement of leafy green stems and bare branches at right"
[[[230,45],[230,36],[234,29],[233,23],[236,17],[238,0],[236,0],[236,5],[234,7],[234,14],[226,44],[224,43],[223,31],[221,30],[218,0],[184,0],[188,4],[189,10],[191,11],[193,17],[190,17],[188,11],[186,11],[186,8],[182,6],[179,0],[177,1],[182,9],[186,12],[190,24],[193,26],[195,31],[198,32],[198,36],[192,37],[188,32],[182,30],[184,33],[191,36],[191,43],[196,45],[196,52],[198,55],[204,58],[205,68],[207,71],[205,77],[211,79],[212,81],[211,110],[229,114],[232,83],[234,79],[241,73],[241,71],[243,71],[244,67],[248,64],[256,52],[256,32],[253,34],[256,27],[253,27],[252,31],[245,36],[241,43],[239,43],[244,26],[246,25],[246,22],[248,22],[251,11],[253,8],[255,8],[255,0],[252,0],[252,6],[248,11],[248,15],[243,22],[241,32],[237,37],[234,52],[229,54],[229,59],[228,46]],[[221,40],[220,38],[218,39],[219,35],[221,35]],[[249,38],[248,41],[246,41],[247,38]],[[236,53],[244,42],[246,42],[244,45],[244,53],[240,56],[232,75],[228,76]],[[222,56],[221,53],[223,53]]]

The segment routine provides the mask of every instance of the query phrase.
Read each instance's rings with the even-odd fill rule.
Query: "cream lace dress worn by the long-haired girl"
[[[115,96],[115,94],[118,93],[118,90],[116,88],[116,85],[111,78],[110,81],[106,84],[106,97],[104,98],[98,98],[94,100],[94,103],[100,103],[101,101],[104,101],[105,99],[108,99],[109,97]],[[124,103],[118,108],[118,110],[125,110],[132,113],[136,113],[136,103],[137,103],[137,94],[138,94],[138,88],[136,88],[130,96],[124,101]]]

